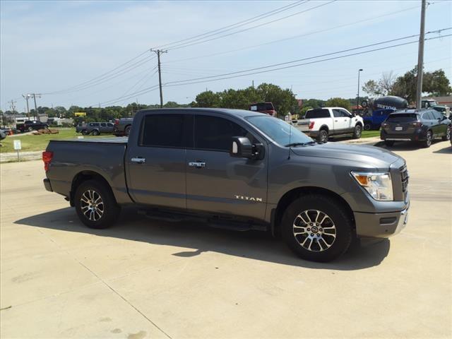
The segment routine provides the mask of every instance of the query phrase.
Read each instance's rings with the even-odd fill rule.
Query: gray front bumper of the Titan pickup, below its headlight
[[[387,238],[398,234],[408,223],[408,208],[391,213],[355,212],[357,237]]]

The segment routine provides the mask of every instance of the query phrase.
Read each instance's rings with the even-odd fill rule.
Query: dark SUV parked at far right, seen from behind
[[[451,120],[435,109],[405,109],[390,114],[381,124],[380,138],[388,146],[395,141],[415,141],[430,147],[434,138],[450,140],[449,126]]]

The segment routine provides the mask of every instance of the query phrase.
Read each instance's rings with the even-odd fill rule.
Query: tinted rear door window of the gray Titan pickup
[[[144,118],[141,145],[184,147],[183,114],[150,114]]]

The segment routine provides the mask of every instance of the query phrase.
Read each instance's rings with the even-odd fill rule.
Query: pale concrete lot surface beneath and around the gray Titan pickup
[[[451,145],[393,151],[408,226],[326,264],[134,210],[90,230],[44,190],[42,162],[1,164],[1,337],[451,338]]]

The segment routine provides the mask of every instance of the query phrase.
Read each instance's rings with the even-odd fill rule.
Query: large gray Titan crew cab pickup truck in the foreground
[[[129,138],[50,141],[47,191],[105,228],[121,206],[153,218],[280,234],[304,259],[331,261],[354,237],[389,237],[408,220],[405,160],[317,143],[280,119],[234,109],[138,112]]]

